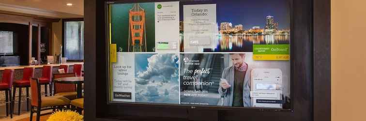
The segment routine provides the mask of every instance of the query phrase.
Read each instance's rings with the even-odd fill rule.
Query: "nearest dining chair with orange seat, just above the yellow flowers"
[[[70,100],[63,96],[41,96],[41,83],[38,78],[31,78],[31,117],[37,114],[36,121],[40,120],[41,111],[49,109],[61,109],[70,105]]]

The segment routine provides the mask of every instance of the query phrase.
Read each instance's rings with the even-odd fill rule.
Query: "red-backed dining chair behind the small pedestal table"
[[[62,77],[75,77],[75,73],[64,73],[64,74],[53,74],[53,80],[56,78]],[[54,84],[54,95],[55,96],[64,96],[70,100],[76,99],[77,92],[75,84],[63,84],[58,83],[56,81],[53,82]]]

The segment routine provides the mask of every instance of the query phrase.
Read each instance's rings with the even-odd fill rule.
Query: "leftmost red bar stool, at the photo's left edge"
[[[5,69],[2,73],[2,80],[0,83],[0,91],[5,91],[5,104],[6,104],[6,116],[9,115],[9,103],[10,103],[10,118],[13,118],[13,101],[12,99],[12,86],[14,79],[14,70]]]

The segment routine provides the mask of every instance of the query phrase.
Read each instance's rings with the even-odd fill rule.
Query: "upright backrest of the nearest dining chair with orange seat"
[[[31,78],[31,105],[41,105],[41,86],[39,85],[38,78]]]

